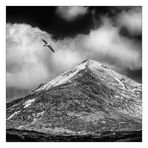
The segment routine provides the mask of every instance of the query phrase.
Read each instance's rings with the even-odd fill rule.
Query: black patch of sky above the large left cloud
[[[79,33],[89,33],[93,25],[92,15],[89,11],[75,21],[65,21],[57,15],[57,8],[54,6],[7,6],[6,20],[12,24],[26,23],[32,27],[38,26],[56,39],[74,37]]]

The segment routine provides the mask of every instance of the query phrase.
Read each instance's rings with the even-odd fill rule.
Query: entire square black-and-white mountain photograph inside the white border
[[[6,142],[142,142],[142,6],[6,6]]]

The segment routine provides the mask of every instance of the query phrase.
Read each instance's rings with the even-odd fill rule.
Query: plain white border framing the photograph
[[[142,6],[143,8],[143,142],[139,143],[130,143],[130,142],[120,142],[120,143],[106,143],[106,142],[87,142],[87,143],[10,143],[5,142],[6,140],[6,122],[5,122],[5,113],[6,113],[6,6]],[[84,146],[84,147],[148,147],[148,98],[147,98],[147,84],[148,84],[148,8],[147,0],[1,0],[0,1],[0,146],[1,147],[18,147],[23,148],[35,146],[40,148],[42,145],[44,147],[75,147],[75,146]]]

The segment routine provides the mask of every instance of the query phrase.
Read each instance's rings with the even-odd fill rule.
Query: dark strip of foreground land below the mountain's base
[[[9,129],[6,133],[7,142],[142,142],[141,131],[109,131],[85,135],[58,135],[36,131]]]

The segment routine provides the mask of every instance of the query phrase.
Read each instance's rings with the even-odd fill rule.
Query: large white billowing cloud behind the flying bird
[[[55,53],[43,47],[42,38]],[[35,88],[78,64],[81,58],[71,41],[56,42],[48,33],[27,24],[7,24],[7,87]]]

